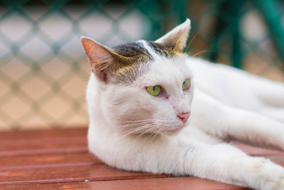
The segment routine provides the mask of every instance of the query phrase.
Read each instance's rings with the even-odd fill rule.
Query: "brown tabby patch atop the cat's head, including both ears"
[[[177,26],[157,41],[136,41],[108,48],[92,40],[81,38],[81,43],[92,72],[104,83],[132,83],[151,67],[155,55],[174,58],[182,55],[190,31],[190,20]],[[148,49],[148,48],[151,48]]]

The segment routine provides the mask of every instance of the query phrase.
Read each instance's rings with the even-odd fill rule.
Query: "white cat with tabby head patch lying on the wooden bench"
[[[284,169],[231,145],[284,150],[284,84],[182,53],[190,19],[156,41],[81,37],[89,152],[111,167],[284,189]]]

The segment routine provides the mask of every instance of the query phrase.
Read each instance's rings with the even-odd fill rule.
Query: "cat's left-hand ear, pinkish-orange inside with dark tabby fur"
[[[115,70],[131,61],[129,60],[131,58],[120,56],[112,51],[111,48],[103,46],[92,38],[82,36],[81,43],[91,65],[92,72],[103,82],[107,82],[108,74],[114,73]]]

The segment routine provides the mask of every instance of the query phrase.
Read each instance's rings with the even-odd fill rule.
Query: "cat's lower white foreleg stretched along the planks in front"
[[[175,176],[197,176],[253,189],[283,189],[284,169],[268,159],[250,157],[230,144],[205,144],[195,139],[157,136],[116,142],[102,158],[112,167]],[[127,147],[127,149],[125,148]],[[118,156],[115,156],[118,155]]]

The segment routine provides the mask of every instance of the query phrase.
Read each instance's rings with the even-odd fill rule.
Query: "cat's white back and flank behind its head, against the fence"
[[[283,83],[226,65],[189,58],[195,86],[225,105],[258,112],[284,123]]]

